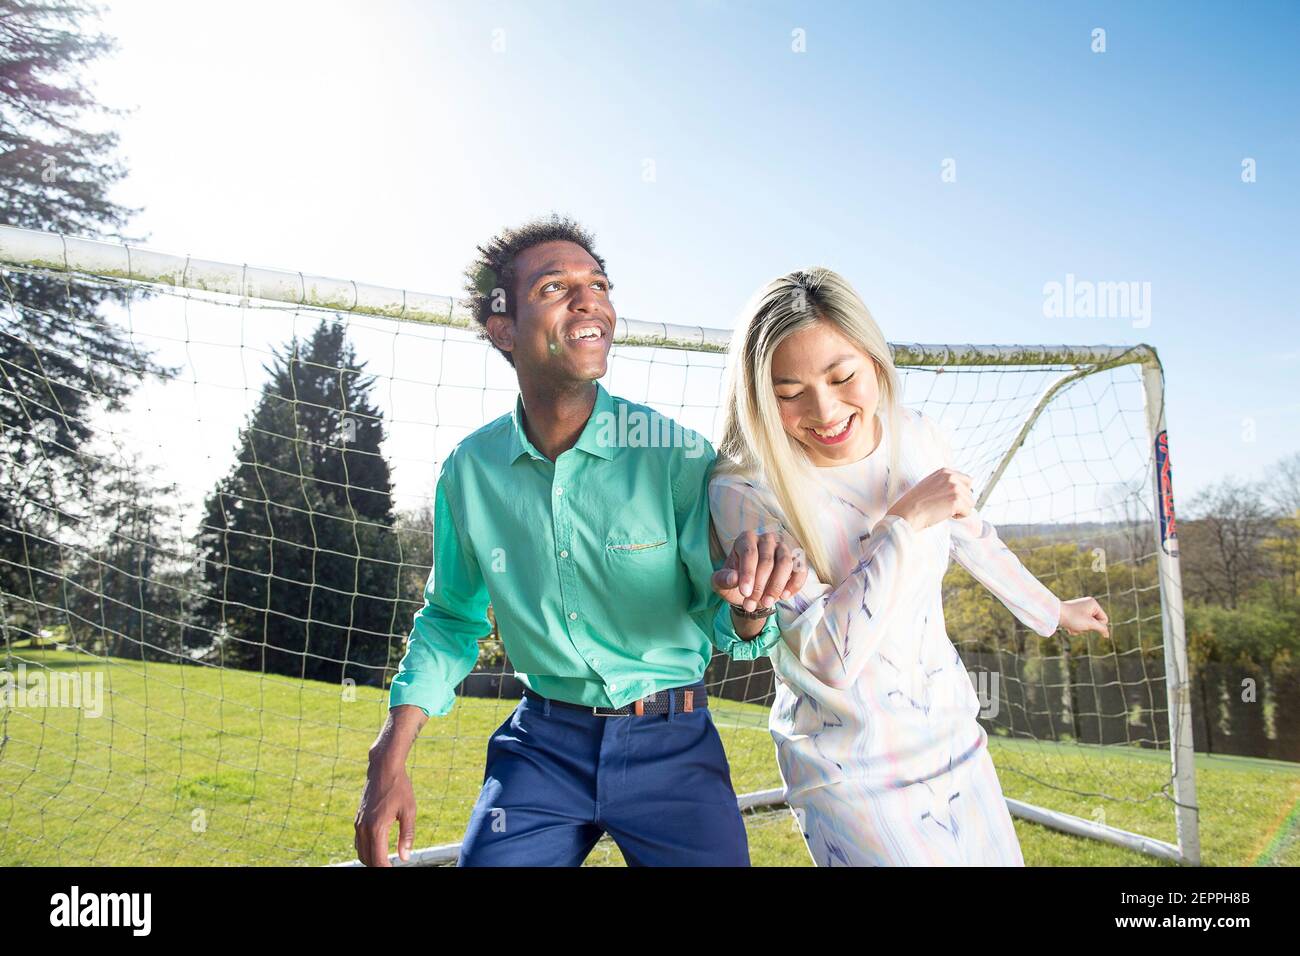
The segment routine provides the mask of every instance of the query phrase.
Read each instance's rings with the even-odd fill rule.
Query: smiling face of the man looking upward
[[[493,339],[524,375],[560,385],[604,377],[618,316],[610,280],[575,242],[543,242],[515,258],[515,320],[489,317]]]

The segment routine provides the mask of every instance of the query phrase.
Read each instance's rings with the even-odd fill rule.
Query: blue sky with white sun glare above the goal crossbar
[[[138,0],[103,26],[152,247],[459,293],[476,242],[554,209],[632,319],[727,328],[822,264],[890,341],[1149,342],[1184,503],[1300,450],[1300,4]],[[1045,317],[1067,274],[1149,282],[1149,324]]]

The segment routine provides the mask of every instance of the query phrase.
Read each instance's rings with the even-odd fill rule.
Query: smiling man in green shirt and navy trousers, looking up
[[[712,645],[753,659],[780,639],[771,613],[803,585],[802,555],[749,532],[715,567],[712,447],[597,381],[616,315],[585,230],[538,220],[478,252],[471,304],[520,397],[443,463],[425,606],[370,748],[358,856],[387,865],[395,818],[408,857],[406,760],[473,669],[490,602],[528,689],[489,741],[460,865],[577,865],[603,832],[632,865],[748,865],[701,678]]]

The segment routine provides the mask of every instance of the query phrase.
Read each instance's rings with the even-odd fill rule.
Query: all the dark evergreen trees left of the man
[[[81,73],[116,48],[98,8],[0,0],[0,222],[142,242],[114,116]],[[419,601],[428,514],[393,514],[382,420],[342,328],[322,323],[268,367],[235,462],[181,541],[177,490],[96,441],[99,416],[178,369],[155,362],[109,307],[112,282],[0,277],[0,623],[96,653],[212,659],[380,683]],[[395,635],[390,640],[390,635]]]

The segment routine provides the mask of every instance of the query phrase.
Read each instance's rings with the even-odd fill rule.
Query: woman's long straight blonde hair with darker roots
[[[824,492],[812,473],[816,466],[781,427],[772,386],[776,349],[796,332],[822,321],[835,325],[875,365],[880,388],[876,416],[889,431],[887,498],[894,499],[901,392],[893,356],[880,326],[853,286],[838,273],[820,267],[774,278],[754,294],[737,320],[727,356],[725,420],[715,473],[763,481],[776,496],[785,515],[785,528],[803,548],[812,572],[833,585],[836,581],[831,578],[828,553],[816,522],[816,511],[826,506]]]

